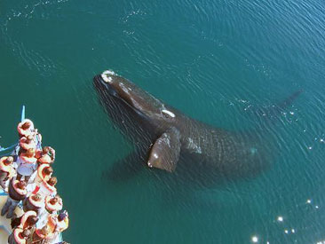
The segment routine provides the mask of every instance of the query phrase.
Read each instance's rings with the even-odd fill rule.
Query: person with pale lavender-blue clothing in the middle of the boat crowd
[[[17,179],[20,180],[24,176],[28,183],[29,178],[37,169],[36,161],[34,148],[29,148],[26,153],[20,153],[17,160]]]

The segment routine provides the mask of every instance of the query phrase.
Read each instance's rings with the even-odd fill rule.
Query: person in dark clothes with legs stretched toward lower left
[[[26,198],[28,194],[26,189],[26,182],[21,180],[11,179],[8,187],[9,196],[7,201],[4,204],[3,209],[1,210],[1,216],[4,216],[7,213],[7,218],[12,218],[13,211],[16,209],[20,201]]]

